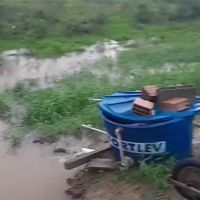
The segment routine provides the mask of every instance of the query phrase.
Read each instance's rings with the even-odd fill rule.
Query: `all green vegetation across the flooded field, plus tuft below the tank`
[[[200,92],[199,18],[197,0],[2,0],[0,51],[28,47],[36,55],[54,56],[105,38],[134,43],[114,64],[104,60],[93,66],[100,77],[82,71],[53,88],[18,84],[1,94],[1,117],[11,117],[14,127],[12,144],[30,130],[57,137],[79,133],[83,123],[101,127],[91,97],[148,84],[194,84]],[[20,120],[12,119],[13,103],[25,108]],[[124,180],[142,179],[166,189],[168,164],[141,163]]]

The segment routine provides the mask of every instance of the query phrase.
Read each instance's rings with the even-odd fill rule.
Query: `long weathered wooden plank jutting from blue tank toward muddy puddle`
[[[108,151],[109,149],[110,145],[107,143],[101,145],[97,150],[91,153],[83,154],[80,155],[79,157],[69,159],[64,163],[65,169],[70,170],[80,165],[83,165],[87,162],[90,162],[92,159],[97,158],[100,154]]]

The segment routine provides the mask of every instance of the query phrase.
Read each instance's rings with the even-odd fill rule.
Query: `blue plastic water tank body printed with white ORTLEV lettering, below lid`
[[[101,114],[109,135],[115,159],[120,160],[119,141],[115,130],[122,128],[122,145],[125,156],[140,159],[174,157],[181,160],[192,155],[193,116],[176,118],[152,124],[122,124]]]

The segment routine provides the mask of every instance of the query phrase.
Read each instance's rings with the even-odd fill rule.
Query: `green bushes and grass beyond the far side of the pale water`
[[[98,40],[127,40],[148,25],[200,18],[198,0],[2,0],[0,50],[27,47],[40,56],[81,50]]]

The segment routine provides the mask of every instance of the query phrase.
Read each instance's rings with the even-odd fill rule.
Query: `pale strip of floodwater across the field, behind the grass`
[[[103,58],[115,60],[123,48],[116,41],[98,43],[82,53],[70,53],[60,58],[36,59],[4,52],[0,70],[0,90],[12,88],[19,81],[37,79],[41,88],[48,87],[52,77],[63,78],[87,68]],[[17,52],[16,52],[17,53]],[[49,79],[50,78],[50,79]]]

